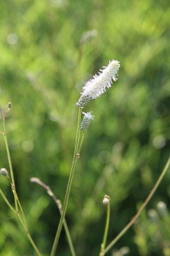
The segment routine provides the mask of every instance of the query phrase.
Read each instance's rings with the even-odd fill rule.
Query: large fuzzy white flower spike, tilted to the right
[[[120,68],[120,64],[117,60],[110,61],[108,67],[104,67],[103,70],[100,70],[99,75],[90,79],[83,87],[83,92],[76,106],[84,108],[89,100],[95,100],[103,95],[106,88],[110,88],[113,81],[117,81],[118,68]]]

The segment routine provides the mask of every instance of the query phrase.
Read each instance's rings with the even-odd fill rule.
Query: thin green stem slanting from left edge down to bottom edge
[[[41,253],[39,252],[38,248],[36,247],[36,244],[34,243],[34,241],[32,240],[32,237],[30,236],[27,228],[25,227],[24,222],[22,221],[22,219],[20,218],[20,214],[18,214],[17,211],[15,211],[15,209],[13,209],[13,207],[11,206],[10,202],[8,201],[8,199],[6,198],[6,196],[4,195],[3,191],[0,189],[0,194],[3,197],[4,201],[6,202],[6,204],[8,205],[8,207],[10,208],[10,210],[13,212],[13,214],[15,214],[15,216],[18,218],[18,220],[20,221],[22,227],[24,228],[25,234],[28,237],[30,243],[32,244],[32,247],[34,248],[34,250],[36,251],[38,256],[41,256]]]

